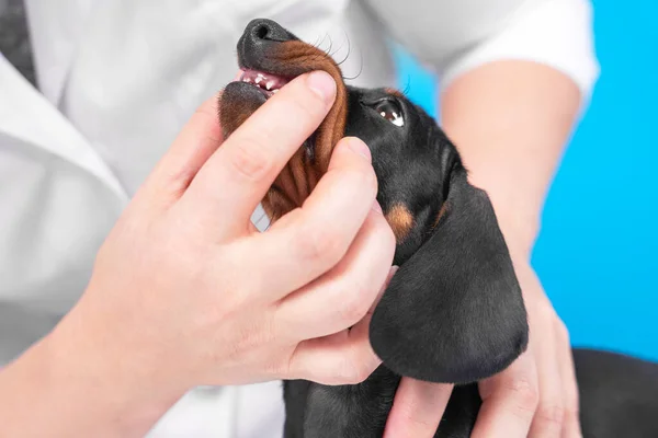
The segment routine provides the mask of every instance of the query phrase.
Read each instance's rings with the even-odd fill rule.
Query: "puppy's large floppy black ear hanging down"
[[[527,318],[487,194],[456,163],[432,235],[376,307],[371,344],[394,372],[466,383],[507,368],[527,345]]]

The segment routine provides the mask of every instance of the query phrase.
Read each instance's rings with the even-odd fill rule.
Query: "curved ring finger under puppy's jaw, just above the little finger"
[[[394,252],[388,222],[381,212],[371,211],[340,263],[280,302],[281,336],[310,339],[361,321],[386,280]]]

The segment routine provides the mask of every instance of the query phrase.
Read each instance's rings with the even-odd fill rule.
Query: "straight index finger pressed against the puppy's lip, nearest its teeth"
[[[220,231],[242,232],[293,153],[327,115],[336,82],[324,71],[295,78],[257,110],[211,157],[183,200],[194,220]],[[230,211],[230,215],[226,215]]]

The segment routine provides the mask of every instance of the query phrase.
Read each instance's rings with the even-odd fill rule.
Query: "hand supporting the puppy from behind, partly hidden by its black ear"
[[[508,233],[508,241],[510,237]],[[512,260],[529,314],[529,347],[507,370],[479,383],[483,405],[472,436],[580,437],[578,389],[567,328],[529,257],[514,254],[523,253],[512,251]],[[384,436],[433,437],[452,390],[452,384],[404,378]]]

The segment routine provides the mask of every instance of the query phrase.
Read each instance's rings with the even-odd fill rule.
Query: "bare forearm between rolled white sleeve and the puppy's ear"
[[[580,99],[561,72],[520,60],[479,67],[442,95],[442,126],[470,182],[489,194],[511,251],[532,250]]]

